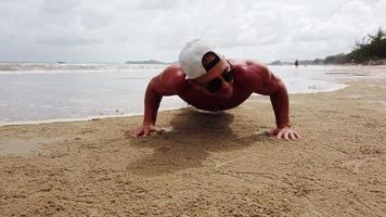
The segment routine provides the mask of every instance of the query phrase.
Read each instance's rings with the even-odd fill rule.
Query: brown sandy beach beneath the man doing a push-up
[[[386,216],[386,79],[291,95],[303,139],[263,135],[267,97],[221,113],[0,127],[0,216]]]

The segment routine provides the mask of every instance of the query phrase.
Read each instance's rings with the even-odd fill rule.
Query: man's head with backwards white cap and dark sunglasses
[[[188,78],[213,93],[232,93],[231,64],[203,40],[189,42],[180,52],[179,62]]]

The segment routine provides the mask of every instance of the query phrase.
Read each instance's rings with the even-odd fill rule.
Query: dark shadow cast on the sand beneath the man
[[[233,114],[204,113],[193,108],[181,110],[170,125],[171,131],[149,138],[130,138],[130,145],[152,149],[153,153],[131,162],[127,169],[133,174],[157,176],[203,167],[210,162],[210,153],[245,149],[267,140],[265,135],[237,137],[230,128]]]

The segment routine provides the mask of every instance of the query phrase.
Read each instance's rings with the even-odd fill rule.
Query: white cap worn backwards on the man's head
[[[178,56],[178,62],[188,78],[195,79],[206,74],[206,69],[203,66],[203,56],[207,52],[214,52],[221,59],[221,55],[219,55],[210,44],[201,39],[195,39],[183,47]]]

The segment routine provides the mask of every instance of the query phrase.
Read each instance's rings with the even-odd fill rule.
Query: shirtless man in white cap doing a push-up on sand
[[[130,135],[146,137],[164,131],[155,126],[164,95],[179,95],[196,108],[216,112],[240,105],[252,93],[270,95],[276,127],[268,135],[285,140],[299,138],[291,128],[288,94],[280,78],[260,63],[227,60],[205,41],[193,40],[181,50],[179,63],[171,64],[149,82],[143,124]]]

